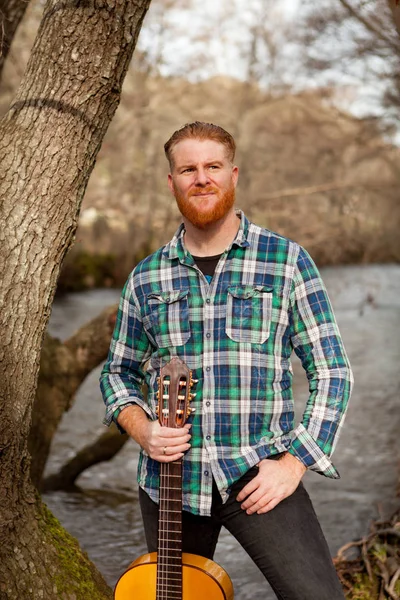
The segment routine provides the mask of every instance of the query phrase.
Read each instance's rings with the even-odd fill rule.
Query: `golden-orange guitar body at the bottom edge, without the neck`
[[[155,600],[157,552],[143,554],[120,577],[114,600]],[[216,562],[182,554],[182,600],[233,600],[233,586]]]

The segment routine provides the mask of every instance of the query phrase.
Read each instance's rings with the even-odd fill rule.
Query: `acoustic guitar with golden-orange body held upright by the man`
[[[196,383],[179,358],[161,368],[158,420],[183,427]],[[118,580],[114,600],[233,600],[232,582],[213,560],[182,553],[182,459],[160,463],[157,552],[136,559]]]

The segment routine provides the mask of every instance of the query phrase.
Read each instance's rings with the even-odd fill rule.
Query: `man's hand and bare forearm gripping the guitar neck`
[[[127,406],[118,415],[118,423],[147,452],[159,462],[173,462],[189,450],[191,435],[188,423],[175,429],[161,427],[158,421],[150,421],[139,406]]]

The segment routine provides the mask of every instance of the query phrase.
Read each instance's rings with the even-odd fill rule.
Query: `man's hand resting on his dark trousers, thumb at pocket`
[[[292,454],[286,453],[279,460],[262,460],[258,474],[238,494],[236,500],[248,515],[261,515],[296,490],[306,467]]]

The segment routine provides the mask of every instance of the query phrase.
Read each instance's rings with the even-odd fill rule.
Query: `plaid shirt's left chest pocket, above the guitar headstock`
[[[146,327],[159,348],[182,346],[190,338],[189,290],[152,293],[147,296]]]

